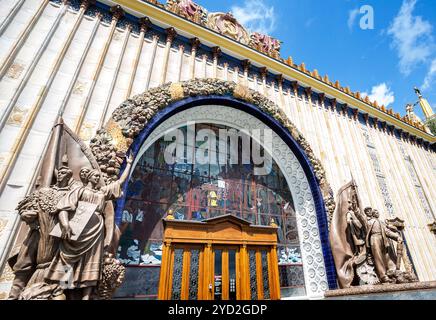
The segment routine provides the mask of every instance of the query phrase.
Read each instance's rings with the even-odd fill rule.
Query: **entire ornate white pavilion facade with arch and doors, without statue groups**
[[[401,222],[398,270],[415,289],[434,287],[436,137],[413,108],[401,116],[380,106],[190,0],[0,6],[0,298],[24,238],[15,208],[38,182],[59,117],[105,178],[120,176],[123,154],[135,156],[114,203],[126,267],[116,298],[317,299],[343,289],[331,230],[351,180],[360,209]],[[270,145],[248,140],[271,156],[271,170],[230,164],[228,150],[224,163],[190,162],[199,146],[189,139],[169,166],[171,128],[270,130]],[[373,282],[359,270],[360,284],[380,282],[373,268]]]

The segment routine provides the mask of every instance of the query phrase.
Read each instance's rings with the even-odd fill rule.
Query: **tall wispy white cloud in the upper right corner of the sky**
[[[419,63],[431,56],[434,42],[432,25],[420,16],[414,16],[417,0],[404,0],[400,12],[389,27],[388,35],[393,38],[393,47],[398,51],[400,71],[409,75]]]

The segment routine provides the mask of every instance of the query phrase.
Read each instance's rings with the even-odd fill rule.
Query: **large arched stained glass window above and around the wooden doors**
[[[294,204],[278,165],[271,159],[265,172],[258,174],[255,168],[259,166],[255,161],[244,160],[243,156],[244,142],[257,144],[253,138],[237,132],[237,143],[232,147],[230,141],[225,140],[223,147],[219,137],[223,132],[234,132],[231,128],[217,124],[193,126],[191,130],[196,139],[166,141],[168,139],[161,137],[136,161],[122,213],[118,248],[118,258],[129,268],[117,296],[157,298],[162,219],[169,214],[179,220],[201,221],[232,214],[256,225],[274,222],[279,227],[282,297],[305,295]],[[188,137],[188,130],[183,127],[179,132]],[[182,151],[176,152],[175,141]],[[208,148],[204,148],[205,144]],[[173,163],[168,161],[172,152],[168,150],[177,155]],[[265,156],[265,152],[260,146],[260,155]],[[198,161],[198,154],[203,154],[208,161]]]

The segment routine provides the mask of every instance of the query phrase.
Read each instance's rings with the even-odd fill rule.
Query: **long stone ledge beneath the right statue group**
[[[326,291],[324,296],[342,300],[435,300],[436,281],[352,287]]]

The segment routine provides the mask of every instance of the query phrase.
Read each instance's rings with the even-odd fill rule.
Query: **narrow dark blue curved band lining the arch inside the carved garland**
[[[131,152],[136,157],[139,150],[141,149],[142,144],[160,124],[181,111],[203,105],[219,105],[223,107],[236,108],[255,116],[267,126],[269,126],[269,128],[274,130],[274,132],[278,134],[292,150],[295,157],[300,162],[304,173],[306,174],[306,177],[309,181],[310,189],[315,202],[315,210],[317,214],[318,228],[320,232],[322,251],[324,255],[327,281],[329,289],[336,289],[336,269],[334,266],[333,255],[329,243],[327,213],[321,190],[315,176],[315,172],[304,150],[300,147],[297,141],[295,141],[289,130],[286,129],[278,120],[273,118],[271,115],[262,111],[259,107],[247,102],[243,102],[241,100],[237,100],[233,96],[209,95],[188,97],[179,100],[168,105],[163,110],[159,111],[153,116],[153,118],[147,123],[146,127],[142,130],[142,132],[135,138],[134,142],[130,146],[129,152]],[[124,167],[125,164],[123,164],[122,169],[124,169]],[[115,222],[117,225],[121,223],[122,211],[126,202],[127,186],[128,183],[123,186],[124,196],[116,202]]]

